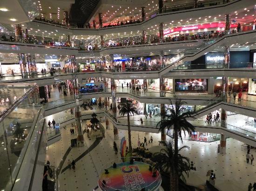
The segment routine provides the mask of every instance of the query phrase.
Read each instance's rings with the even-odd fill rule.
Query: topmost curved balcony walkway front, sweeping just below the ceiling
[[[151,26],[158,25],[159,23],[170,23],[171,20],[180,21],[186,20],[191,18],[198,18],[198,17],[214,17],[215,15],[222,15],[224,18],[225,14],[231,14],[235,11],[241,11],[243,8],[249,8],[254,6],[255,3],[252,0],[232,0],[230,3],[227,4],[220,4],[214,6],[206,6],[206,7],[199,7],[193,9],[185,9],[180,11],[169,10],[170,12],[156,14],[154,17],[150,19],[130,25],[118,25],[113,27],[105,27],[99,29],[85,29],[85,28],[67,28],[63,25],[58,25],[54,23],[48,23],[44,21],[34,20],[32,22],[27,23],[28,28],[33,28],[33,30],[41,30],[45,29],[46,31],[58,31],[60,34],[65,35],[106,35],[112,33],[130,33],[130,32],[137,32],[142,30],[147,30]],[[170,20],[171,18],[171,20]]]

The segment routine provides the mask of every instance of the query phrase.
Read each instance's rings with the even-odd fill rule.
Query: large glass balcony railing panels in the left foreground
[[[7,90],[5,96],[10,100],[7,105],[0,105],[0,190],[9,191],[17,180],[29,142],[34,139],[34,129],[44,127],[45,122],[41,120],[36,84],[0,86]],[[35,155],[36,152],[31,157]]]

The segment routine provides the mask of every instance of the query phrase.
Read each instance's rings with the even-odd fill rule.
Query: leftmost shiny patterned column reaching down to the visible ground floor
[[[77,66],[76,66],[76,60],[75,56],[70,56],[70,72],[73,73],[73,92],[74,92],[74,99],[77,100],[80,98],[79,95],[79,88],[78,88],[78,78],[76,76],[77,72]],[[76,106],[74,108],[74,114],[75,114],[75,124],[76,124],[76,130],[77,130],[77,141],[79,143],[84,142],[84,137],[83,137],[83,131],[82,131],[82,120],[81,120],[81,107],[80,105]]]

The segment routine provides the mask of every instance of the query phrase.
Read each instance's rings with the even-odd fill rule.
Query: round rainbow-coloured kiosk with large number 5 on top
[[[137,161],[132,164],[122,162],[115,168],[113,161],[112,166],[100,175],[98,185],[101,191],[158,191],[162,178],[159,171],[150,167],[153,162],[142,158],[133,160]]]

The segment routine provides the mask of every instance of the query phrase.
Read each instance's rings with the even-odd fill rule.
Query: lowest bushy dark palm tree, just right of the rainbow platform
[[[182,146],[178,149],[178,155],[175,156],[173,140],[160,141],[160,143],[165,147],[162,148],[159,153],[154,153],[152,160],[155,161],[154,167],[160,169],[161,173],[169,174],[170,178],[170,188],[171,191],[178,191],[176,187],[176,175],[182,178],[186,182],[183,172],[189,177],[189,158],[184,157],[180,154],[180,151],[189,146]],[[176,162],[175,162],[176,161]]]

